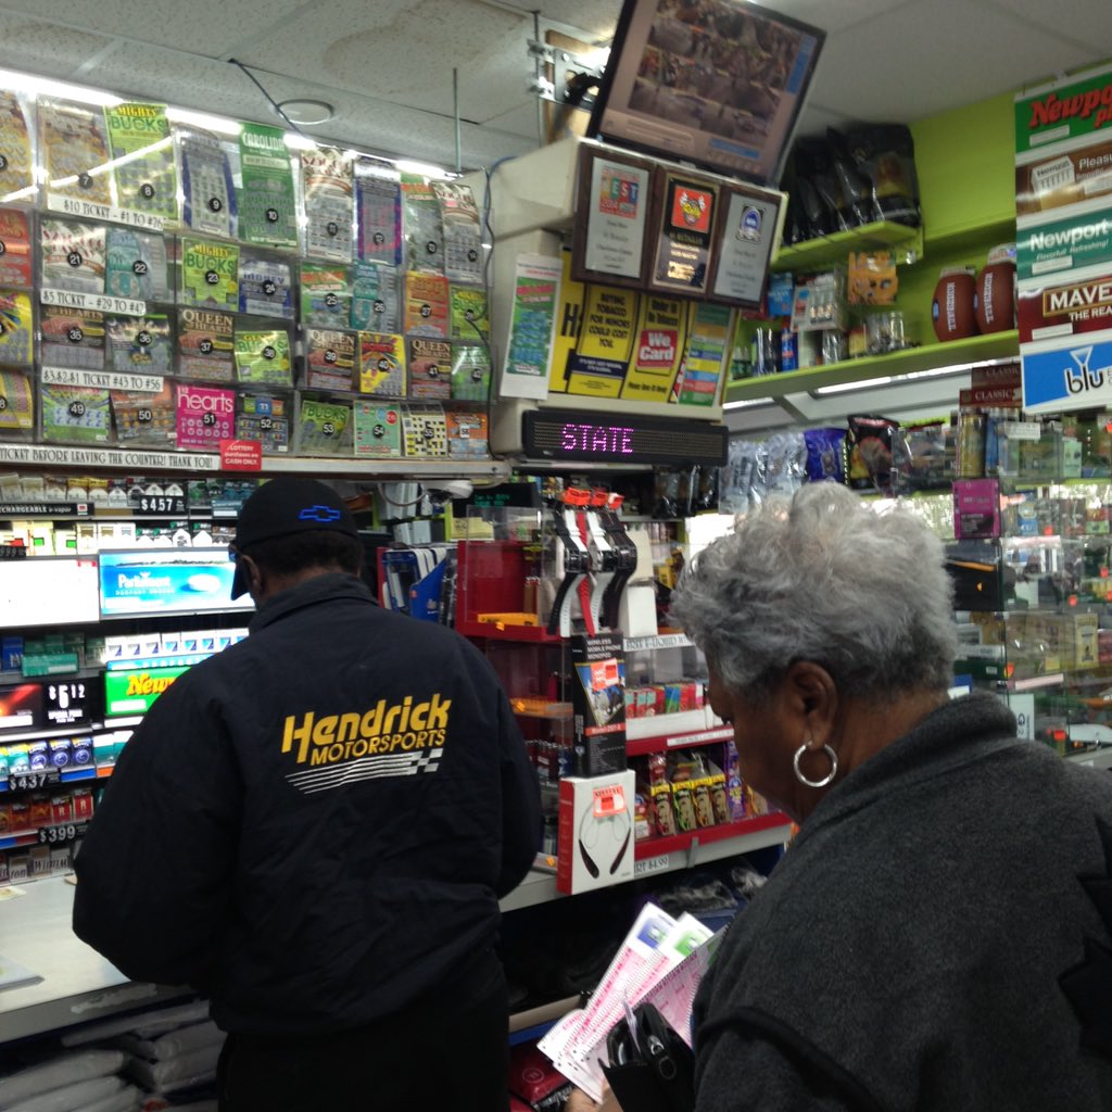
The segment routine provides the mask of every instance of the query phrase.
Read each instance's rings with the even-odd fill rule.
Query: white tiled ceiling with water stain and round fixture
[[[528,40],[605,42],[622,0],[0,0],[0,66],[465,169],[538,145]],[[801,133],[933,116],[1112,56],[1110,0],[775,0],[827,30]],[[455,71],[455,72],[454,72]]]

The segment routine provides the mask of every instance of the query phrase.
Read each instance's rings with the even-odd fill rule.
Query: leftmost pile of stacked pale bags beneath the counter
[[[136,1112],[142,1094],[119,1050],[64,1051],[0,1078],[2,1112]]]

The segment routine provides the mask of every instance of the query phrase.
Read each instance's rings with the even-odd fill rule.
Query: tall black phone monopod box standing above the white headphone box
[[[575,771],[580,776],[626,767],[625,651],[622,634],[572,638]]]

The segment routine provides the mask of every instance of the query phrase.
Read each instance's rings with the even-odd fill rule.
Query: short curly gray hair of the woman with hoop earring
[[[752,702],[794,661],[844,696],[952,683],[957,635],[942,543],[912,514],[876,514],[832,483],[766,504],[691,562],[672,615],[722,682]]]

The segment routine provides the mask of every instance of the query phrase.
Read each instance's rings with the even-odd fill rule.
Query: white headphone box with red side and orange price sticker
[[[566,895],[633,880],[632,768],[559,782],[556,891]]]

